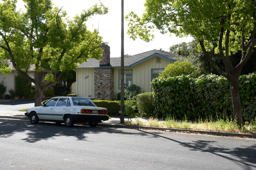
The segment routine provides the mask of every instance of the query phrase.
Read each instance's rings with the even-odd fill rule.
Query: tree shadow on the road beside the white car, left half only
[[[35,143],[58,136],[75,137],[76,140],[89,141],[87,137],[88,134],[99,134],[102,132],[151,136],[150,134],[145,135],[145,133],[142,132],[132,133],[129,132],[129,130],[90,127],[88,125],[74,125],[68,128],[64,124],[56,124],[53,122],[40,121],[38,124],[31,124],[29,120],[0,119],[0,127],[0,137],[11,137],[16,133],[25,132],[26,136],[22,140],[28,143]]]

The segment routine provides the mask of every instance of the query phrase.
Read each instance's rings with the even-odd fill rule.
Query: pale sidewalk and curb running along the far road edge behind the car
[[[25,112],[13,111],[13,110],[0,110],[0,118],[6,119],[21,119],[28,120],[28,117],[25,116]],[[140,118],[141,119],[141,118]],[[134,121],[134,118],[132,119]],[[124,121],[128,121],[128,118],[125,118]],[[147,121],[146,119],[141,119],[141,121]],[[125,125],[120,124],[120,118],[117,116],[111,116],[111,119],[99,123],[100,127],[109,127],[109,128],[141,128],[145,130],[161,130],[165,132],[186,132],[186,133],[199,133],[207,135],[217,135],[217,136],[230,136],[230,137],[252,137],[256,139],[256,134],[245,134],[245,133],[229,133],[229,132],[215,132],[215,131],[202,131],[202,130],[187,130],[187,129],[175,129],[175,128],[158,128],[158,127],[149,127],[149,126],[134,126],[134,125]]]

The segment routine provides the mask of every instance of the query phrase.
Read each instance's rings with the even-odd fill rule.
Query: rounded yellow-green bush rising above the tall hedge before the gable
[[[193,66],[190,62],[174,62],[174,64],[169,64],[159,77],[176,77],[179,75],[191,75],[191,77],[198,77],[199,72],[197,68]]]

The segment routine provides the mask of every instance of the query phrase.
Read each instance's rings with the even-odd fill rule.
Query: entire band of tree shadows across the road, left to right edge
[[[117,133],[124,135],[138,135],[141,137],[150,138],[164,138],[175,143],[178,143],[184,147],[189,148],[192,151],[208,152],[213,155],[222,157],[241,166],[241,169],[253,170],[256,169],[256,144],[252,146],[239,146],[237,148],[226,148],[219,146],[216,141],[210,140],[197,140],[186,143],[184,141],[178,141],[166,137],[165,133],[150,132],[145,130],[128,130],[117,128],[103,128],[90,126],[79,126],[67,128],[64,124],[58,125],[50,122],[39,122],[38,124],[31,124],[29,120],[13,120],[13,119],[0,119],[0,137],[8,138],[16,133],[26,133],[23,139],[27,143],[35,143],[37,141],[54,139],[54,137],[74,137],[76,140],[90,142],[88,139],[89,134],[100,133]],[[236,159],[234,159],[236,157]]]

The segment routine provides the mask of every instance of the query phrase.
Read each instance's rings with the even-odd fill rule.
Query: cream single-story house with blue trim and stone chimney
[[[76,83],[72,91],[79,97],[95,100],[113,100],[121,91],[121,57],[110,58],[110,47],[102,44],[102,60],[88,58],[76,69]],[[173,64],[176,54],[151,50],[130,57],[124,57],[124,88],[135,84],[141,92],[152,91],[150,82],[158,77],[168,64]]]

